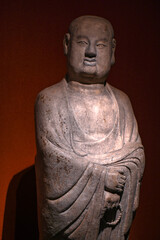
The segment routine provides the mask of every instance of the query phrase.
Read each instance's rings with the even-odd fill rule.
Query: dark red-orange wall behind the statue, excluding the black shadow
[[[64,76],[63,36],[74,18],[86,14],[107,18],[114,27],[116,64],[108,82],[129,95],[145,147],[140,206],[130,239],[160,239],[159,0],[2,0],[0,235],[3,228],[3,240],[36,239],[36,190],[34,166],[31,166],[36,153],[34,101],[40,90]]]

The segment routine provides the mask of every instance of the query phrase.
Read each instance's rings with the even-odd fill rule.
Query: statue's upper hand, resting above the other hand
[[[126,182],[124,175],[124,169],[118,167],[110,167],[107,169],[105,179],[105,189],[109,192],[123,192],[123,188]]]

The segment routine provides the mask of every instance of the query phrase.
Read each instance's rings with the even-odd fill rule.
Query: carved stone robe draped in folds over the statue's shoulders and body
[[[105,91],[115,115],[110,131],[102,139],[91,138],[78,123],[65,79],[37,97],[40,240],[127,239],[138,207],[144,151],[128,97],[108,83]],[[107,168],[112,166],[123,167],[127,178],[121,207],[108,211],[104,208],[105,178]],[[114,226],[109,224],[118,218]]]

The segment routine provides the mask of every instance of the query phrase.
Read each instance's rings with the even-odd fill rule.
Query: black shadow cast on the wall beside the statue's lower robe
[[[35,167],[16,174],[8,188],[2,240],[38,240]]]

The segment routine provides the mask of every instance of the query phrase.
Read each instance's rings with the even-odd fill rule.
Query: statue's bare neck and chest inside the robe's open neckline
[[[108,136],[117,120],[113,96],[102,84],[69,83],[69,107],[80,131],[93,140]]]

